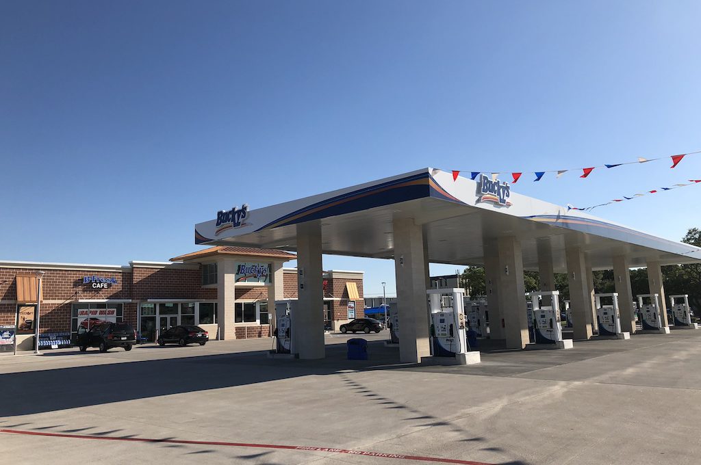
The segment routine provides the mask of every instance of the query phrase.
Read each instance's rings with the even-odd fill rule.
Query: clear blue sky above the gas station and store
[[[167,260],[243,202],[701,150],[700,17],[698,1],[5,0],[0,259]],[[513,190],[589,205],[701,177],[701,155],[669,165]],[[679,240],[700,200],[594,214]],[[324,266],[394,291],[391,261]]]

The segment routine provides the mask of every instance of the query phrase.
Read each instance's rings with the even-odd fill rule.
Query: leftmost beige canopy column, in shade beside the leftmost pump
[[[318,221],[297,225],[297,310],[293,336],[300,359],[323,359],[324,289],[321,265],[321,225]]]

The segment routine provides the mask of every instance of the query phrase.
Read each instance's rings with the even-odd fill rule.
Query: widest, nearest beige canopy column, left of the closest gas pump
[[[400,361],[418,363],[430,356],[423,230],[414,218],[395,218],[393,230]]]

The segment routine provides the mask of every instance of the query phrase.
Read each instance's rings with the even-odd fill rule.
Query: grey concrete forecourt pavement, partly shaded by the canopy
[[[379,341],[370,342],[369,361],[349,361],[346,336],[327,338],[319,361],[246,352],[268,349],[261,341],[1,359],[10,401],[0,429],[203,443],[0,438],[7,457],[27,464],[74,463],[76,452],[108,464],[421,463],[273,445],[486,464],[697,464],[697,333],[577,342],[567,351],[484,342],[479,366],[402,365]]]

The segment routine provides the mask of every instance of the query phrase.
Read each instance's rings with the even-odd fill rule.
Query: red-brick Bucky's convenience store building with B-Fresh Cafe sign
[[[198,324],[211,339],[266,338],[271,300],[297,298],[297,269],[284,268],[293,254],[277,249],[212,247],[169,262],[84,265],[0,261],[0,326],[18,324],[20,349],[31,349],[36,333],[38,275],[39,333],[69,333],[97,320],[125,321],[148,340],[177,324]],[[348,321],[348,302],[362,317],[362,272],[324,272],[325,327]],[[16,323],[15,323],[16,322]]]

